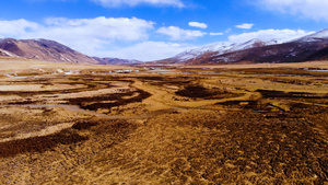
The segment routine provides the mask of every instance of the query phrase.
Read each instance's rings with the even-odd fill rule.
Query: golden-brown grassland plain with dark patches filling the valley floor
[[[327,61],[0,65],[0,184],[328,183]]]

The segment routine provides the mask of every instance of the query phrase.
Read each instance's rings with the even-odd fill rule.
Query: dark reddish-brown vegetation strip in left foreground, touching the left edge
[[[58,144],[71,144],[86,139],[87,137],[80,136],[69,129],[66,129],[49,136],[0,142],[0,157],[9,158],[20,153],[31,152],[42,153],[48,150],[55,150]]]

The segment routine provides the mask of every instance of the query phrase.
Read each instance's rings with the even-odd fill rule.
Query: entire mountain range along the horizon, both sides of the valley
[[[96,65],[144,65],[138,60],[89,57],[48,39],[0,38],[0,56],[55,62]],[[292,41],[216,43],[147,65],[221,65],[238,62],[300,62],[328,59],[328,28]]]

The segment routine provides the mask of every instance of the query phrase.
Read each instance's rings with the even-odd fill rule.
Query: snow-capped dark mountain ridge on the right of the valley
[[[153,63],[220,65],[234,62],[301,62],[328,59],[328,30],[293,41],[218,43]]]

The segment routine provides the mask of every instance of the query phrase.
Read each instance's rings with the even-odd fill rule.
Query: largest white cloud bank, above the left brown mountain
[[[26,20],[0,21],[0,37],[54,39],[86,55],[115,46],[117,42],[147,41],[153,22],[132,18],[48,19],[46,24]]]

